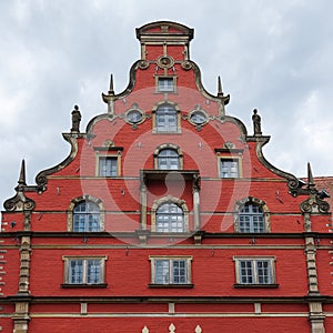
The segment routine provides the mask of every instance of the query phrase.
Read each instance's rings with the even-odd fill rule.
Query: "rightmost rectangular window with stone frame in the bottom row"
[[[236,283],[242,285],[275,284],[274,258],[235,258]]]

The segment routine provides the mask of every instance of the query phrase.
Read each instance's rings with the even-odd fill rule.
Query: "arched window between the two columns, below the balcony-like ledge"
[[[183,232],[184,212],[173,202],[165,202],[157,210],[158,232]]]

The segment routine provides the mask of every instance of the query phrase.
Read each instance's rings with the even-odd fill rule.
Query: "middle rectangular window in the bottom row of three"
[[[152,284],[183,285],[191,284],[192,258],[150,256]]]

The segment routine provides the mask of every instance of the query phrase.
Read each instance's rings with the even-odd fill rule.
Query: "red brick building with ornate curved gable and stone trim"
[[[68,158],[4,202],[2,332],[333,332],[332,219],[202,85],[193,30],[137,29],[141,59]]]

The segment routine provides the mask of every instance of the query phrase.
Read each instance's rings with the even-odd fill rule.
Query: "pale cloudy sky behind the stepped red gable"
[[[216,77],[226,113],[252,133],[256,108],[266,159],[297,176],[333,175],[333,1],[331,0],[0,0],[0,201],[69,153],[74,104],[81,129],[107,109],[113,73],[125,89],[139,59],[135,28],[170,20],[194,28],[191,59],[205,89]],[[2,209],[2,208],[1,208]]]

